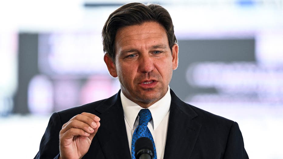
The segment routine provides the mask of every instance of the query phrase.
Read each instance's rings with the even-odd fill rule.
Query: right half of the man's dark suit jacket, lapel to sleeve
[[[172,90],[170,93],[164,159],[248,158],[236,122],[185,103]]]

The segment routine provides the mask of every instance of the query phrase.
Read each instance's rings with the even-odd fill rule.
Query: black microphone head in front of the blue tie
[[[148,137],[141,137],[135,142],[136,159],[154,158],[153,144]]]

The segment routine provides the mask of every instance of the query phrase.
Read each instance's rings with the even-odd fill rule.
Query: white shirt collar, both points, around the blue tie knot
[[[121,91],[121,102],[124,111],[124,117],[131,127],[134,129],[135,120],[137,119],[138,112],[143,109],[138,104],[129,100]],[[159,123],[163,120],[165,115],[168,113],[171,104],[170,87],[168,86],[167,93],[159,101],[152,104],[148,109],[151,112],[153,120],[153,130],[155,130]]]

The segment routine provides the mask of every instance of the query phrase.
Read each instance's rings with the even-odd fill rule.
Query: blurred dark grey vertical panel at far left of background
[[[29,113],[28,85],[38,70],[38,34],[19,33],[18,90],[13,113]]]

